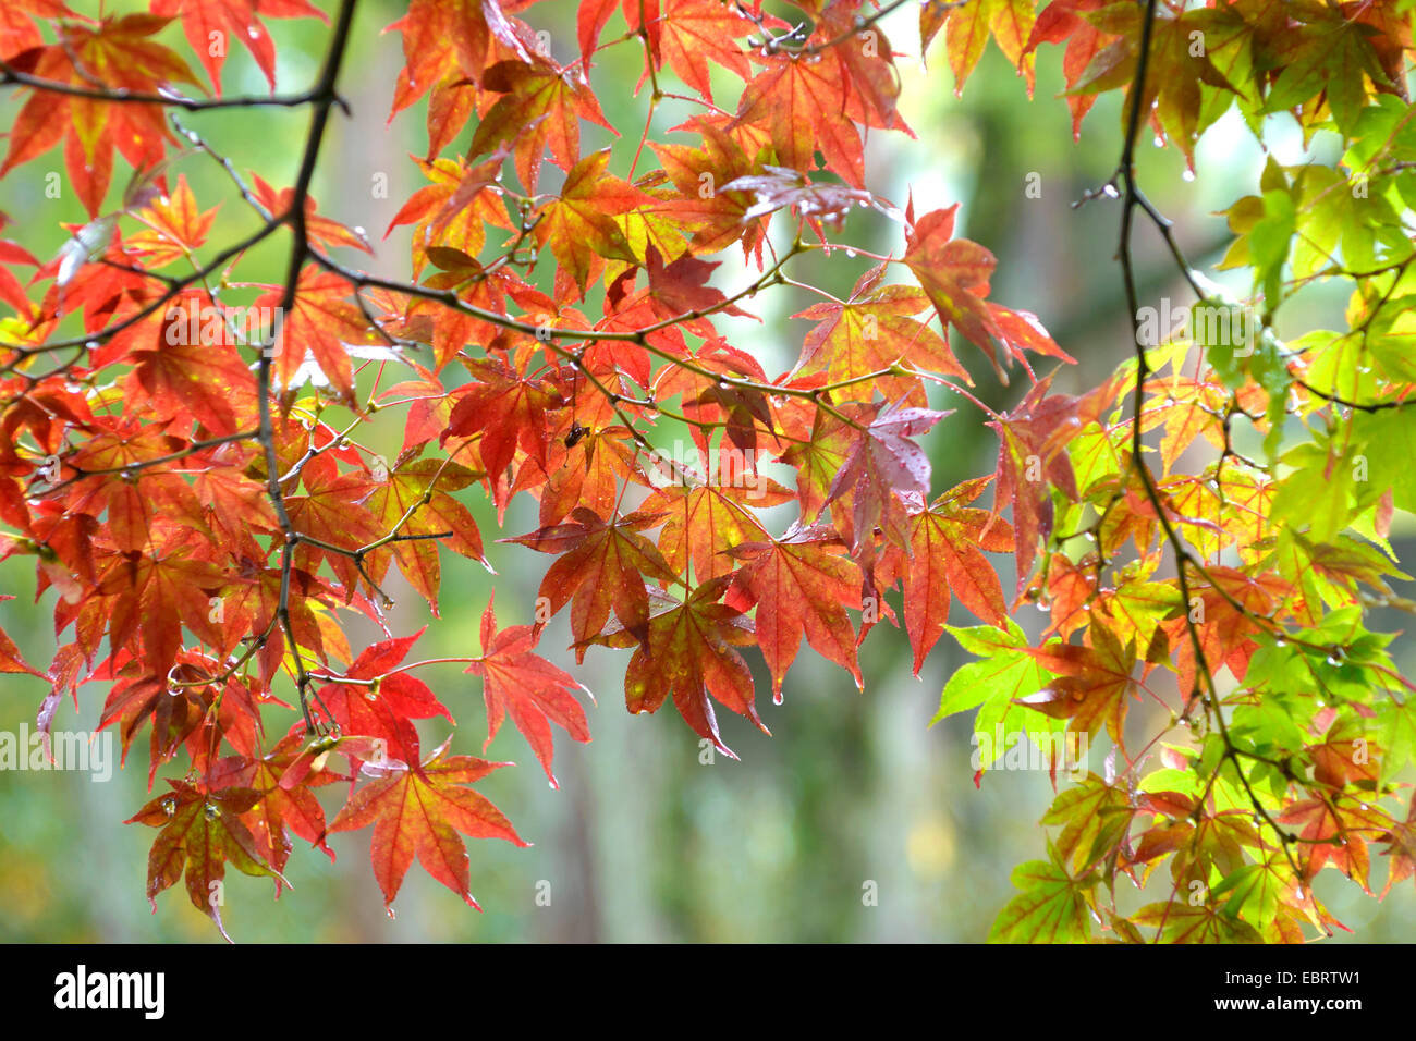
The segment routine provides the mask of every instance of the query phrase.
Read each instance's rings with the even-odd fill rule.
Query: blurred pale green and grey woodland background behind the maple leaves
[[[327,0],[319,6],[329,10]],[[106,13],[137,4],[109,3]],[[772,4],[769,4],[769,8]],[[75,8],[96,13],[95,4]],[[406,276],[408,234],[398,229],[378,241],[402,201],[425,183],[409,160],[422,154],[426,135],[422,106],[387,123],[392,85],[402,62],[401,37],[382,34],[404,6],[381,0],[360,3],[351,52],[341,91],[353,119],[334,119],[314,181],[321,211],[351,225],[362,225],[377,242],[374,269]],[[793,8],[777,4],[790,17]],[[548,0],[527,13],[549,33],[555,57],[576,54],[575,4]],[[902,8],[884,28],[896,51],[906,52],[902,112],[918,135],[872,135],[867,143],[867,183],[901,205],[913,193],[916,211],[961,203],[959,234],[973,238],[1000,258],[993,299],[1037,312],[1055,339],[1079,358],[1056,377],[1063,391],[1095,384],[1130,350],[1129,320],[1114,263],[1119,207],[1107,200],[1073,208],[1072,203],[1110,177],[1120,149],[1120,98],[1109,95],[1086,120],[1079,143],[1072,140],[1062,91],[1061,55],[1045,48],[1038,61],[1037,96],[991,45],[956,96],[943,40],[936,41],[926,71],[919,59],[916,10]],[[270,20],[279,52],[279,86],[300,89],[317,72],[326,27],[313,20]],[[605,33],[623,31],[616,16]],[[180,40],[174,31],[173,41]],[[184,44],[174,44],[184,48]],[[185,50],[184,50],[185,52]],[[647,112],[647,89],[634,95],[641,71],[637,41],[605,50],[592,84],[612,125],[623,136],[582,126],[582,152],[615,147],[615,169],[623,173],[639,142]],[[232,48],[225,86],[231,93],[259,93],[265,81],[242,48]],[[715,99],[732,109],[741,82],[715,68]],[[11,92],[0,98],[0,126],[17,112]],[[667,103],[654,120],[654,133],[692,113]],[[229,154],[242,170],[259,171],[276,186],[293,180],[304,139],[303,112],[212,112],[185,122]],[[469,127],[457,144],[466,147]],[[1304,150],[1286,116],[1270,120],[1270,144],[1284,163],[1320,156],[1331,160],[1335,147],[1321,136]],[[1324,152],[1324,149],[1327,149]],[[1143,184],[1151,198],[1177,221],[1177,235],[1191,261],[1208,269],[1228,244],[1216,211],[1247,194],[1257,181],[1264,154],[1236,119],[1226,119],[1201,142],[1195,176],[1172,149],[1144,147]],[[0,211],[13,220],[7,235],[37,255],[51,256],[62,245],[61,221],[82,221],[72,193],[59,200],[44,194],[44,174],[62,176],[59,150],[0,180]],[[651,157],[640,160],[640,171]],[[178,167],[198,201],[222,203],[212,242],[251,227],[251,217],[208,160],[194,156]],[[1025,193],[1028,176],[1041,180],[1041,197]],[[387,197],[372,190],[379,176],[389,183]],[[547,164],[542,190],[554,190],[558,174]],[[122,176],[116,177],[118,181]],[[122,184],[110,200],[116,205]],[[1037,193],[1032,193],[1034,195]],[[899,227],[872,215],[852,215],[841,242],[877,252],[899,251]],[[1174,268],[1161,255],[1148,229],[1138,231],[1140,292],[1160,306],[1170,296],[1187,302]],[[253,252],[242,278],[276,280],[283,272],[283,239]],[[729,292],[752,275],[741,252],[729,251],[716,283]],[[869,265],[837,251],[796,262],[790,273],[837,296],[848,295]],[[898,276],[896,276],[898,278]],[[1239,292],[1247,286],[1236,285]],[[809,324],[790,320],[806,297],[763,293],[752,302],[762,323],[731,322],[729,340],[756,353],[770,372],[790,367]],[[1341,320],[1341,296],[1308,293],[1284,309],[1284,319],[1303,324]],[[588,310],[596,313],[592,297]],[[1281,330],[1280,330],[1281,331]],[[974,370],[978,392],[995,408],[1021,397],[993,381],[973,348],[960,355]],[[925,440],[935,466],[936,491],[956,482],[990,473],[995,440],[976,412],[960,401],[940,402],[959,412]],[[668,438],[680,432],[670,432]],[[368,436],[392,457],[398,448],[392,428]],[[779,474],[780,476],[780,474]],[[473,507],[497,575],[460,558],[445,558],[442,622],[433,625],[418,650],[421,657],[477,653],[477,623],[493,586],[503,625],[528,622],[535,589],[548,559],[515,545],[497,545],[496,516],[480,493],[463,493]],[[777,530],[790,517],[775,514]],[[1406,523],[1409,518],[1400,518]],[[507,516],[504,534],[537,527],[534,503],[523,497]],[[1399,528],[1393,541],[1410,551],[1413,533]],[[1010,561],[1000,559],[1005,585]],[[412,595],[398,596],[389,625],[411,632],[429,620],[426,606]],[[406,589],[405,589],[406,591]],[[0,565],[0,626],[41,669],[55,640],[52,591],[34,605],[30,561]],[[1044,616],[1025,608],[1020,619],[1037,635]],[[971,623],[967,615],[956,618]],[[1375,627],[1399,629],[1403,619],[1376,619]],[[377,639],[377,630],[354,619],[351,639]],[[572,656],[562,613],[548,627],[541,650],[566,667]],[[864,693],[850,677],[828,667],[803,646],[787,683],[784,704],[773,705],[760,659],[760,711],[772,736],[746,721],[721,714],[724,736],[741,762],[722,755],[704,762],[697,736],[666,708],[654,717],[630,717],[623,708],[623,670],[629,652],[595,649],[575,673],[598,695],[590,710],[593,742],[556,742],[561,789],[551,790],[530,749],[508,724],[487,755],[514,759],[515,769],[496,773],[481,785],[534,843],[517,850],[504,843],[472,843],[473,892],[484,912],[413,867],[396,901],[396,918],[384,914],[368,865],[370,833],[336,836],[331,863],[303,843],[287,867],[293,891],[272,902],[268,880],[232,872],[224,918],[238,940],[280,942],[411,942],[411,940],[981,940],[994,914],[1012,888],[1008,872],[1020,861],[1044,855],[1044,833],[1037,826],[1051,800],[1051,783],[1039,772],[990,772],[981,787],[970,766],[970,719],[953,718],[930,727],[940,690],[964,656],[950,639],[939,643],[919,678],[910,676],[903,636],[881,626],[862,647]],[[1413,652],[1398,643],[1403,669]],[[453,749],[480,753],[484,708],[480,683],[459,666],[426,669],[430,683],[457,717]],[[0,729],[33,725],[45,690],[33,677],[0,676]],[[105,684],[91,684],[59,710],[58,729],[91,729],[105,697]],[[1155,718],[1143,715],[1141,725]],[[293,714],[292,714],[293,719]],[[285,725],[285,719],[273,721]],[[446,729],[426,727],[426,746]],[[558,735],[559,738],[561,735]],[[1092,749],[1092,769],[1102,769],[1104,748]],[[150,914],[143,899],[147,848],[154,831],[123,824],[147,797],[146,741],[135,745],[126,770],[106,783],[82,773],[0,772],[0,939],[4,940],[193,940],[219,942],[211,922],[195,911],[181,888],[167,892]],[[173,775],[169,768],[160,776]],[[159,789],[161,780],[157,782]],[[337,803],[326,799],[333,813]],[[1385,882],[1383,858],[1374,858],[1374,887]],[[869,884],[874,882],[874,887]],[[878,899],[862,899],[871,888]],[[1168,888],[1168,887],[1167,887]],[[1410,884],[1382,904],[1325,871],[1318,884],[1334,912],[1355,931],[1355,939],[1383,942],[1416,933],[1416,891]],[[549,902],[545,895],[549,894]],[[538,901],[538,895],[541,899]],[[1160,887],[1130,894],[1134,906],[1161,899]],[[1340,933],[1335,940],[1348,936]]]

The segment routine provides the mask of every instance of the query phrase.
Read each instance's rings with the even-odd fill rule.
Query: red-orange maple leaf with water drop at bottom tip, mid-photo
[[[814,528],[794,528],[782,538],[743,542],[732,555],[743,562],[724,601],[756,606],[758,646],[772,673],[772,693],[782,700],[782,680],[796,660],[801,637],[848,670],[864,690],[855,659],[855,632],[845,608],[861,606],[860,569],[833,552],[834,540]]]

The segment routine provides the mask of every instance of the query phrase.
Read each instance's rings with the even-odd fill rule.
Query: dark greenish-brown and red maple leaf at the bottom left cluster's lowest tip
[[[187,897],[194,908],[211,916],[231,942],[221,922],[217,899],[227,864],[246,875],[265,875],[289,882],[261,860],[251,830],[241,821],[256,802],[248,787],[202,792],[184,780],[170,780],[173,792],[159,796],[127,819],[129,824],[161,829],[147,855],[147,901],[157,911],[157,894],[176,885],[185,868]]]

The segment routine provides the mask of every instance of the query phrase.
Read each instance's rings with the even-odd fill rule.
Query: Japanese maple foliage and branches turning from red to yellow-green
[[[150,899],[184,878],[225,932],[210,891],[228,868],[279,892],[295,838],[371,829],[388,905],[415,858],[474,905],[464,838],[525,840],[476,790],[506,763],[450,751],[438,677],[476,677],[486,741],[510,721],[555,785],[556,744],[590,739],[586,693],[542,653],[562,612],[576,661],[632,652],[630,712],[671,701],[728,755],[719,712],[766,729],[753,664],[777,701],[803,643],[864,687],[878,627],[916,674],[946,632],[978,659],[940,717],[1106,742],[1099,772],[1063,776],[1052,752],[1048,837],[993,939],[1300,942],[1341,926],[1324,867],[1368,892],[1372,854],[1388,888],[1416,874],[1416,686],[1368,627],[1413,608],[1389,585],[1416,513],[1410,4],[582,0],[552,37],[535,0],[412,0],[379,44],[402,47],[391,119],[426,126],[389,227],[412,228],[404,278],[368,269],[355,204],[312,197],[355,0],[324,7],[0,11],[18,102],[0,177],[62,149],[88,212],[54,256],[0,241],[0,561],[33,561],[59,637],[44,664],[0,632],[0,671],[47,687],[44,732],[72,702],[125,755],[146,744]],[[918,37],[885,37],[899,8]],[[324,24],[323,64],[282,92],[299,18]],[[228,41],[269,93],[224,91]],[[1076,395],[1055,371],[1085,348],[993,297],[1000,258],[959,234],[957,204],[867,177],[869,140],[915,135],[905,52],[961,92],[988,47],[1029,93],[1035,62],[1062,62],[1039,126],[1079,137],[1121,99],[1114,174],[1078,204],[1119,222],[1134,337]],[[599,75],[610,48],[639,55],[637,85]],[[650,118],[612,126],[602,98],[630,89]],[[307,110],[297,156],[236,161],[188,126],[259,106]],[[1185,259],[1134,164],[1150,136],[1194,166],[1231,110],[1260,140],[1283,115],[1334,144],[1235,188],[1233,293]],[[637,139],[632,161],[613,135]],[[197,197],[198,166],[222,198]],[[218,204],[249,231],[214,241]],[[867,218],[889,251],[862,248]],[[1141,228],[1194,293],[1180,329],[1141,299]],[[283,276],[244,280],[268,244]],[[854,259],[848,299],[794,276],[813,254]],[[1345,322],[1281,340],[1280,309],[1320,283],[1349,295]],[[797,320],[784,372],[724,331],[767,295]],[[980,367],[1005,406],[971,389]],[[957,423],[990,428],[997,467],[936,487],[920,439]],[[391,425],[385,459],[365,442]],[[692,457],[666,460],[673,438]],[[539,521],[481,531],[474,497],[498,520],[534,500]],[[389,578],[436,625],[445,569],[493,542],[544,568],[534,616],[489,602],[477,653],[421,657]],[[1015,620],[1029,603],[1041,637]],[[977,625],[950,625],[954,605]],[[384,639],[351,647],[357,615]],[[1153,877],[1168,897],[1141,904]]]

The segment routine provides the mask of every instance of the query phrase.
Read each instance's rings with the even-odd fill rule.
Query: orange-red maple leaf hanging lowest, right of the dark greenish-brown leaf
[[[481,911],[472,897],[467,847],[459,831],[472,838],[504,838],[530,846],[501,810],[464,787],[511,763],[470,755],[445,759],[446,751],[447,742],[422,765],[413,763],[368,782],[330,821],[331,834],[374,826],[370,847],[374,878],[389,911],[415,857],[428,874]]]

